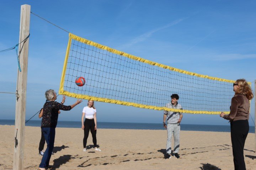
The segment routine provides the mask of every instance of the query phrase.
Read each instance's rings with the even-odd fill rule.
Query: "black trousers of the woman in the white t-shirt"
[[[94,130],[94,128],[95,128],[94,119],[85,119],[84,140],[83,140],[84,148],[86,148],[86,142],[89,136],[89,131],[91,131],[91,134],[92,134],[92,142],[94,143],[94,147],[97,147],[96,130]]]

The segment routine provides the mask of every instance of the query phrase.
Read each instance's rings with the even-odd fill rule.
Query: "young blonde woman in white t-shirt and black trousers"
[[[85,121],[84,121],[85,117]],[[84,152],[86,151],[87,138],[89,136],[89,131],[92,134],[92,142],[94,143],[94,149],[96,151],[101,151],[97,148],[96,130],[97,130],[97,119],[96,119],[96,109],[94,107],[94,101],[89,100],[86,107],[82,111],[82,129],[84,130]]]

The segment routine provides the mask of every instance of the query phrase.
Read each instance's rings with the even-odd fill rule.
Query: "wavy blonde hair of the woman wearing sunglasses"
[[[236,83],[239,85],[239,88],[235,92],[236,94],[242,93],[248,98],[248,100],[251,100],[254,95],[251,90],[251,86],[247,83],[245,79],[238,79],[236,80]]]

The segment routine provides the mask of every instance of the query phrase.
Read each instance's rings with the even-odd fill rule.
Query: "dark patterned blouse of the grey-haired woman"
[[[47,101],[44,103],[41,128],[56,128],[59,110],[69,111],[71,110],[71,106],[65,106],[54,101]]]

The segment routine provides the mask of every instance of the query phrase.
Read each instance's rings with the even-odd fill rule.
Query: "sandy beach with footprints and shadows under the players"
[[[180,159],[165,159],[166,133],[165,130],[97,129],[97,144],[102,152],[92,148],[91,134],[87,140],[89,149],[83,152],[83,130],[56,128],[51,169],[234,169],[229,132],[181,131]],[[12,169],[14,126],[0,125],[0,134],[0,170]],[[37,169],[41,162],[42,156],[38,155],[40,138],[39,127],[26,127],[23,163],[26,170]],[[247,170],[256,169],[254,147],[254,134],[249,133],[244,149]]]

